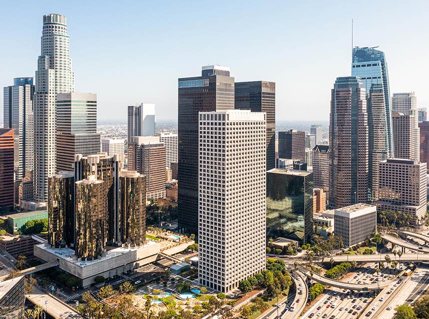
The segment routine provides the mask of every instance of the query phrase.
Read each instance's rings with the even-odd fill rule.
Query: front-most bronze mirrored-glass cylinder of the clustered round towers
[[[76,257],[91,261],[106,251],[108,215],[104,181],[95,175],[76,181]]]

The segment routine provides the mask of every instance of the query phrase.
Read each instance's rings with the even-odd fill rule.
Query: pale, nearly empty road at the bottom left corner
[[[59,302],[52,296],[47,295],[37,287],[34,287],[33,292],[25,296],[34,305],[39,305],[43,311],[55,319],[65,318],[81,318],[71,307]]]

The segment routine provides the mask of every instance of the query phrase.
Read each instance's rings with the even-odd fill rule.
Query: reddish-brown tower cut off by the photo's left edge
[[[0,207],[13,208],[13,129],[0,128]]]

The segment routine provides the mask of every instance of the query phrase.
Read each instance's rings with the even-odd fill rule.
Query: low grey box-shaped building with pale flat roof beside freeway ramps
[[[360,244],[377,230],[377,207],[359,203],[335,209],[334,226],[345,247]]]

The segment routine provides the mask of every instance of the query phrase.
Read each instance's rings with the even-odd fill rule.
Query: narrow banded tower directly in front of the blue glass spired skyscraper
[[[386,105],[383,86],[371,85],[367,95],[368,110],[368,189],[370,201],[378,199],[378,164],[387,158]]]

